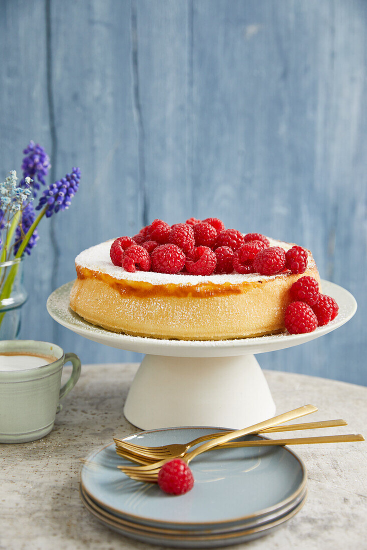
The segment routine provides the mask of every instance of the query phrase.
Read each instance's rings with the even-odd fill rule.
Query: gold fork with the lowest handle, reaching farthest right
[[[223,443],[222,445],[218,445],[218,447],[215,447],[215,449],[238,449],[241,447],[272,447],[275,445],[282,446],[282,445],[310,445],[315,443],[349,443],[349,442],[356,442],[356,441],[364,441],[364,437],[360,433],[347,433],[342,434],[339,436],[316,436],[316,437],[293,437],[293,438],[287,438],[287,439],[256,439],[255,441],[239,441],[239,442],[229,442],[229,443]],[[212,449],[207,449],[212,450]],[[202,451],[203,453],[206,451]],[[120,453],[118,450],[116,450],[116,453],[118,456],[122,456],[122,458],[126,458],[128,460],[131,460],[133,462],[136,462],[137,464],[142,465],[149,465],[149,464],[155,464],[152,460],[143,459],[138,456],[128,456],[125,453]],[[186,460],[185,460],[186,461]],[[125,469],[122,469],[121,466],[117,466],[122,470],[124,473]],[[139,469],[140,471],[141,469]],[[150,481],[150,480],[141,480],[139,474],[127,474],[129,477],[132,477],[132,479],[136,479],[138,481]],[[153,482],[154,480],[152,480]]]

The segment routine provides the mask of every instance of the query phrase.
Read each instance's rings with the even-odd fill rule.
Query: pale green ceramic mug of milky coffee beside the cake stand
[[[44,366],[23,370],[0,370],[0,443],[34,441],[51,432],[58,401],[75,386],[80,360],[60,346],[36,340],[2,340],[0,354],[33,354],[55,357]],[[62,367],[71,362],[70,378],[61,386]]]

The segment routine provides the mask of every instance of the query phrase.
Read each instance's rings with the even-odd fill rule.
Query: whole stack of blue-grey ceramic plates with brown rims
[[[223,428],[171,428],[129,436],[154,447],[185,443]],[[256,439],[260,436],[247,436]],[[85,461],[80,497],[102,524],[150,544],[216,548],[258,538],[292,518],[306,500],[307,472],[286,447],[212,450],[190,464],[195,485],[185,495],[163,493],[117,469],[125,463],[111,443]]]

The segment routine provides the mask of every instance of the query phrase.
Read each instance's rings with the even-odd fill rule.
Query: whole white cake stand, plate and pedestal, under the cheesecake
[[[323,336],[353,317],[357,302],[347,290],[322,281],[322,291],[339,304],[339,314],[309,334],[193,342],[116,334],[84,321],[69,308],[72,282],[47,300],[62,326],[113,348],[145,357],[129,390],[124,414],[142,430],[171,426],[241,428],[274,415],[276,406],[253,354],[290,348]]]

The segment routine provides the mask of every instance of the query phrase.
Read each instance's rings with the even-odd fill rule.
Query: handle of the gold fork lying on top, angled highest
[[[195,458],[195,456],[204,453],[207,450],[212,449],[213,447],[217,447],[217,445],[228,443],[228,441],[231,441],[232,439],[237,439],[238,437],[247,436],[249,433],[257,433],[261,430],[265,430],[266,428],[282,424],[283,422],[289,422],[290,420],[294,420],[296,418],[299,418],[300,416],[311,414],[311,412],[315,411],[317,411],[317,407],[315,407],[314,405],[304,405],[302,407],[298,407],[297,409],[283,412],[283,414],[274,416],[273,418],[270,418],[263,422],[258,422],[253,426],[244,428],[243,430],[235,430],[234,432],[229,433],[227,432],[225,435],[219,437],[217,436],[212,439],[212,441],[207,441],[207,443],[204,443],[196,449],[193,449],[190,453],[186,454],[184,460],[188,464],[193,458]]]

